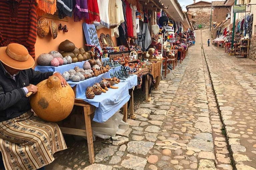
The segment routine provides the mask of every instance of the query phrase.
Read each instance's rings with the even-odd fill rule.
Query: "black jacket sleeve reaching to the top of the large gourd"
[[[40,71],[35,71],[32,68],[27,70],[28,78],[29,78],[29,83],[37,85],[41,81],[48,79],[50,76],[53,75],[53,72],[45,72],[42,73]]]

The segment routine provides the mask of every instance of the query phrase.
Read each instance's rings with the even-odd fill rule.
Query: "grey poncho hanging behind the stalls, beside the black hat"
[[[148,29],[148,24],[140,21],[140,33],[138,34],[138,39],[135,42],[141,46],[142,50],[145,51],[151,44],[151,36]]]

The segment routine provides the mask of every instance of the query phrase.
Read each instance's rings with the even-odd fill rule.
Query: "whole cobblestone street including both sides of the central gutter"
[[[135,90],[136,120],[128,119],[121,140],[96,138],[95,164],[86,140],[65,136],[68,149],[46,169],[255,170],[256,64],[208,47],[209,29],[195,33],[196,44],[152,90],[150,103]]]

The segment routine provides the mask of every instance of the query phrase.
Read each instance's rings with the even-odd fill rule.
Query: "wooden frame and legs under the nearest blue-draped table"
[[[73,90],[75,87],[73,88]],[[74,91],[75,92],[75,91]],[[94,114],[96,107],[86,103],[81,99],[75,99],[74,106],[81,106],[84,109],[84,118],[85,118],[85,129],[76,129],[76,128],[66,128],[60,127],[61,132],[64,134],[72,134],[78,136],[86,136],[87,137],[87,145],[89,151],[89,161],[91,164],[95,162],[94,156],[94,148],[93,148],[93,140],[92,140],[92,126],[91,126],[91,115]],[[127,121],[127,106],[128,102],[123,106],[123,121]]]

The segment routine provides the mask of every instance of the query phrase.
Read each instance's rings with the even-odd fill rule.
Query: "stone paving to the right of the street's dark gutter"
[[[209,36],[208,30],[202,34]],[[255,72],[236,64],[233,62],[236,58],[223,54],[216,47],[203,46],[233,165],[238,170],[255,170]]]

